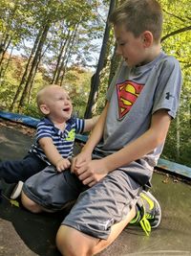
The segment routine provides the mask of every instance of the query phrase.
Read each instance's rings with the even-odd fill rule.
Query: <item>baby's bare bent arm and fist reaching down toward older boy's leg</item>
[[[53,139],[51,137],[43,137],[38,140],[40,147],[45,152],[50,163],[55,166],[58,172],[64,171],[71,166],[69,159],[63,158],[53,145]]]

